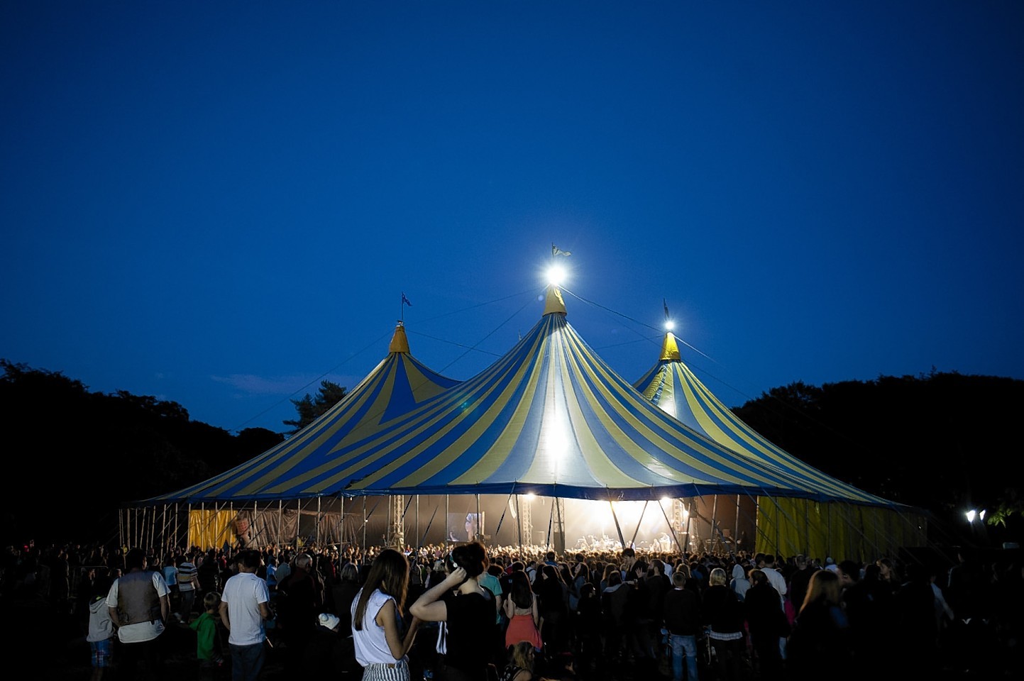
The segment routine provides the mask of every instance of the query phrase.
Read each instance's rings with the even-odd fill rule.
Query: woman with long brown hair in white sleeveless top
[[[401,611],[409,589],[409,561],[384,549],[370,566],[367,582],[352,600],[352,640],[364,681],[409,681],[409,650],[419,621],[401,635]]]

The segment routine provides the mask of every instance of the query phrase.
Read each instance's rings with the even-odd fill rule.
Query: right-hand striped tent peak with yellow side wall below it
[[[759,504],[759,544],[802,547],[808,555],[887,553],[885,547],[916,545],[924,515],[843,482],[765,439],[700,382],[681,358],[672,332],[662,354],[634,387],[651,402],[705,437],[750,461],[782,468],[804,484],[824,488],[826,497],[780,496]],[[839,538],[839,539],[837,539]],[[844,545],[842,551],[834,547]]]

